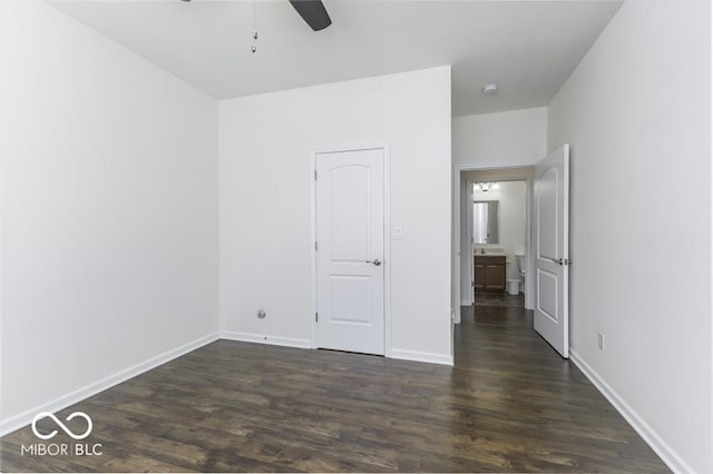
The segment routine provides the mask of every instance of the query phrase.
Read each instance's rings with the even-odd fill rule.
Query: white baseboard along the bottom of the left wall
[[[197,349],[198,347],[203,347],[206,344],[211,344],[214,340],[218,339],[218,333],[208,334],[207,336],[201,337],[191,343],[184,344],[180,347],[175,349],[167,350],[163,354],[157,355],[156,357],[152,357],[148,361],[136,364],[131,367],[125,368],[124,371],[117,372],[114,375],[109,375],[98,382],[94,382],[89,385],[86,385],[75,392],[71,392],[67,395],[64,395],[59,398],[56,398],[51,402],[47,402],[42,405],[36,406],[31,409],[28,409],[19,415],[14,415],[8,419],[3,419],[0,422],[0,436],[4,436],[8,433],[12,433],[16,429],[20,429],[30,423],[32,423],[32,418],[40,412],[58,412],[60,409],[67,408],[76,403],[81,402],[82,399],[89,398],[92,395],[98,394],[99,392],[104,392],[107,388],[110,388],[115,385],[120,384],[121,382],[126,382],[129,378],[136,377],[145,372],[150,371],[152,368],[158,367],[174,358],[180,357],[184,354],[187,354],[192,350]]]

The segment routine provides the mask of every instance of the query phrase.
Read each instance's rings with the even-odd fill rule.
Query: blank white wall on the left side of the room
[[[217,332],[217,105],[35,0],[0,57],[7,429]]]

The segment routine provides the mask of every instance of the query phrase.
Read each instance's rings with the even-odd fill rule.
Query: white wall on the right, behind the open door
[[[672,466],[700,473],[713,472],[710,8],[624,3],[548,113],[549,148],[572,144],[573,357]]]

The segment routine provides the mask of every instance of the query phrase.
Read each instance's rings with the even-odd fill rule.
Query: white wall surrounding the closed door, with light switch
[[[222,101],[222,328],[310,345],[311,150],[388,142],[391,353],[450,361],[450,126],[449,67]]]

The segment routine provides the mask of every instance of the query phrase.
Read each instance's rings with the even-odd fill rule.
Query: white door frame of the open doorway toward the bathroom
[[[508,170],[516,168],[528,168],[534,167],[535,162],[522,162],[517,165],[500,165],[500,164],[463,164],[457,165],[453,167],[453,305],[457,306],[458,310],[456,313],[455,323],[459,324],[460,318],[460,306],[462,303],[462,296],[460,292],[461,278],[460,278],[460,260],[461,260],[461,239],[460,239],[460,210],[461,210],[461,186],[460,186],[460,176],[465,171],[490,171],[490,170],[502,170],[504,175],[506,175],[502,179],[494,178],[502,181],[514,181],[514,180],[525,180],[527,185],[526,191],[526,203],[525,203],[525,253],[526,253],[526,261],[525,261],[525,271],[526,275],[533,275],[534,271],[534,260],[533,260],[533,177],[510,177],[507,176]],[[470,233],[469,233],[470,234]],[[472,268],[472,264],[469,265],[469,268]],[[472,271],[471,271],[472,273]],[[472,290],[470,290],[470,298],[472,297]],[[470,299],[472,303],[472,299]],[[525,307],[527,309],[534,308],[534,286],[533,278],[525,278]]]

